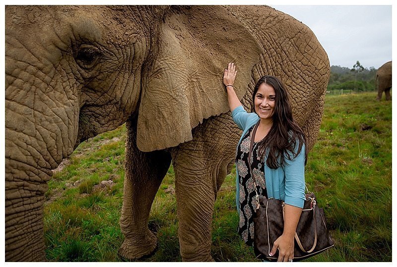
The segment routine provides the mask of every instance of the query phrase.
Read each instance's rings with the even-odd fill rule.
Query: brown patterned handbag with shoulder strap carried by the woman
[[[258,125],[259,122],[255,125],[252,133],[249,160]],[[248,165],[251,169],[251,163]],[[254,175],[252,177],[255,189],[257,189]],[[333,247],[324,210],[317,206],[314,193],[308,192],[305,196],[306,200],[295,232],[294,262],[307,259]],[[272,198],[259,199],[258,193],[256,198],[259,204],[254,218],[254,252],[258,259],[276,262],[278,250],[273,256],[270,256],[269,253],[274,241],[281,236],[284,230],[284,202]]]

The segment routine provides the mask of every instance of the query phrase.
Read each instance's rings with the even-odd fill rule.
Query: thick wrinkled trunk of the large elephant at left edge
[[[65,69],[26,57],[13,41],[6,38],[5,260],[44,261],[47,182],[73,152],[80,107]]]

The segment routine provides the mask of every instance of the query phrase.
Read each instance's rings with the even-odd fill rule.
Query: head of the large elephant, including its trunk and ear
[[[216,8],[6,6],[6,260],[43,257],[46,182],[81,141],[132,115],[141,151],[174,147],[228,111],[225,64],[241,98],[260,60],[243,28]]]

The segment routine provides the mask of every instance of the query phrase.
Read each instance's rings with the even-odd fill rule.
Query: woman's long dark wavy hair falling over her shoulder
[[[276,169],[284,166],[286,159],[292,160],[301,152],[303,144],[306,144],[306,136],[292,117],[292,107],[289,102],[287,91],[277,77],[266,75],[259,79],[252,94],[254,110],[255,95],[258,92],[258,88],[264,83],[273,87],[275,92],[275,103],[272,116],[273,125],[266,137],[258,143],[258,152],[263,160],[267,150],[268,156],[266,165],[272,169]],[[257,113],[256,110],[255,113]],[[295,153],[297,144],[298,149]],[[305,164],[306,162],[307,148],[305,146]]]

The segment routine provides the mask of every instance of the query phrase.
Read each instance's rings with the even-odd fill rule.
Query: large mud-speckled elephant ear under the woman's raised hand
[[[143,152],[190,141],[203,119],[229,111],[225,67],[237,65],[234,88],[241,100],[261,51],[244,25],[221,6],[173,7],[155,46],[138,111],[137,147]]]

